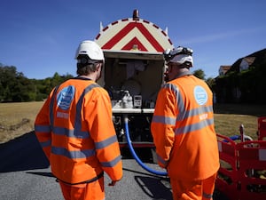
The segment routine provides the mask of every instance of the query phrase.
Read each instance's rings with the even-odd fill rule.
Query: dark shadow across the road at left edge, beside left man
[[[27,132],[17,139],[0,144],[0,172],[43,169],[49,162],[43,153],[35,132]]]

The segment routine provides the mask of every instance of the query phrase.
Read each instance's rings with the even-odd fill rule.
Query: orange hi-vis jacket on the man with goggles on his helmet
[[[205,180],[219,169],[213,94],[191,74],[164,84],[151,124],[158,164],[176,180]]]

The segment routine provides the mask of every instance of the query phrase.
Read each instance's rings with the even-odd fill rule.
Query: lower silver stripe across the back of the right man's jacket
[[[189,132],[194,132],[197,130],[200,130],[210,124],[214,124],[214,119],[207,119],[207,120],[203,120],[200,121],[200,123],[197,124],[190,124],[190,125],[186,125],[184,127],[180,127],[180,128],[176,128],[175,133],[176,134],[185,134],[185,133],[189,133]]]

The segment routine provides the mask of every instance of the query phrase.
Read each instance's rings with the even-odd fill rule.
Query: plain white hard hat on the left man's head
[[[105,60],[102,49],[98,44],[90,40],[82,41],[82,43],[79,45],[75,52],[74,58],[77,59],[79,55],[87,55],[90,60]]]

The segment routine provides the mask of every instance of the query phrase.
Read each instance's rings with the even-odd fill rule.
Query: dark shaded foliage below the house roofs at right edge
[[[231,71],[215,80],[215,92],[219,102],[265,104],[266,61],[246,70]]]

